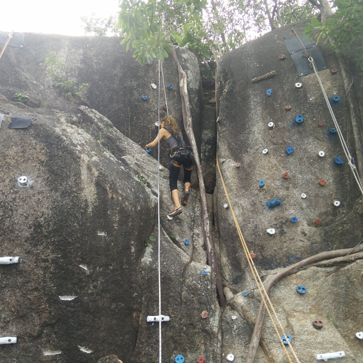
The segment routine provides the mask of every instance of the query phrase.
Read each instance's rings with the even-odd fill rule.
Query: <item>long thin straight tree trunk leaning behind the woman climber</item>
[[[166,32],[166,25],[163,21],[163,32],[167,34]],[[170,40],[170,39],[169,39]],[[214,241],[213,241],[213,231],[212,231],[212,223],[209,219],[209,213],[208,213],[208,205],[207,205],[207,193],[205,191],[205,184],[203,179],[203,173],[202,168],[200,165],[199,160],[199,153],[197,144],[194,137],[193,132],[193,119],[192,119],[192,113],[191,113],[191,107],[189,103],[189,96],[188,96],[188,89],[187,89],[187,74],[184,72],[183,68],[181,68],[178,56],[176,55],[175,48],[172,48],[172,56],[174,60],[174,64],[176,68],[178,68],[179,73],[179,90],[180,90],[180,96],[181,96],[181,109],[183,111],[183,122],[184,122],[184,129],[187,133],[189,142],[191,144],[191,147],[193,149],[193,155],[195,158],[196,166],[197,166],[197,174],[198,174],[198,180],[199,180],[199,192],[200,192],[200,203],[201,203],[201,214],[202,214],[202,227],[203,227],[203,239],[204,239],[204,245],[207,249],[207,257],[208,257],[208,265],[211,266],[212,271],[216,278],[216,287],[217,287],[217,296],[219,300],[219,304],[222,307],[225,307],[225,298],[223,294],[223,287],[222,287],[222,281],[221,281],[221,275],[219,272],[218,267],[218,260],[214,248]]]

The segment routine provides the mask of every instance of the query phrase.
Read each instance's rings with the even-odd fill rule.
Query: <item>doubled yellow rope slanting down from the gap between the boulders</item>
[[[216,97],[217,97],[217,83],[216,83],[216,86],[215,86],[215,91],[216,91]],[[216,99],[217,99],[217,98],[216,98]],[[216,102],[216,114],[217,114],[217,116],[218,116],[218,106],[217,106],[217,102]],[[217,134],[218,134],[218,123],[217,123]],[[253,278],[254,278],[254,280],[255,280],[255,282],[256,282],[256,285],[257,285],[257,287],[258,287],[258,290],[260,291],[262,301],[264,302],[264,305],[265,305],[266,311],[267,311],[267,313],[269,314],[269,317],[270,317],[270,319],[271,319],[272,325],[273,325],[273,327],[274,327],[274,329],[275,329],[275,331],[276,331],[276,334],[278,335],[278,338],[279,338],[279,340],[280,340],[280,343],[281,343],[282,347],[284,348],[284,351],[285,351],[285,354],[286,354],[286,356],[287,356],[287,359],[289,359],[289,362],[290,362],[290,363],[292,363],[292,361],[291,361],[291,357],[290,357],[290,355],[289,355],[289,352],[287,352],[286,347],[285,347],[285,344],[282,342],[282,339],[281,339],[281,336],[282,336],[282,335],[285,335],[285,337],[286,337],[286,333],[285,333],[285,331],[284,331],[284,328],[283,328],[283,327],[282,327],[282,325],[281,325],[280,319],[277,317],[276,311],[275,311],[275,309],[274,309],[274,307],[273,307],[273,305],[272,305],[272,302],[271,302],[271,300],[270,300],[270,298],[269,298],[269,296],[268,296],[268,294],[267,294],[267,292],[266,292],[266,290],[265,290],[264,284],[262,283],[261,277],[260,277],[260,275],[258,274],[257,268],[256,268],[256,266],[255,266],[255,264],[254,264],[254,262],[253,262],[252,258],[249,258],[249,256],[250,256],[250,252],[249,252],[249,249],[248,249],[248,247],[247,247],[246,241],[245,241],[245,239],[244,239],[244,237],[243,237],[243,235],[242,235],[241,228],[240,228],[240,226],[239,226],[239,224],[238,224],[238,221],[237,221],[236,215],[234,214],[234,211],[233,211],[233,208],[232,208],[232,204],[231,204],[231,200],[229,199],[228,192],[227,192],[227,188],[226,188],[226,186],[225,186],[224,179],[223,179],[223,176],[222,176],[222,172],[221,172],[221,169],[220,169],[220,167],[219,167],[219,161],[218,161],[218,148],[217,148],[217,155],[216,155],[216,158],[217,158],[217,168],[218,168],[219,175],[220,175],[220,177],[221,177],[221,182],[222,182],[222,185],[223,185],[224,193],[225,193],[225,195],[226,195],[226,197],[227,197],[227,201],[228,201],[228,204],[229,204],[229,208],[231,208],[231,212],[232,212],[232,216],[233,216],[234,224],[236,225],[237,233],[238,233],[238,236],[240,237],[240,240],[241,240],[241,243],[242,243],[242,247],[243,247],[243,250],[244,250],[244,252],[245,252],[245,255],[246,255],[246,258],[247,258],[248,264],[249,264],[249,266],[250,266],[250,269],[251,269],[251,272],[252,272]],[[278,326],[279,326],[279,327],[280,327],[280,329],[281,329],[282,334],[280,334],[280,331],[278,330],[278,328],[277,328],[277,326],[276,326],[276,323],[275,323],[275,321],[274,321],[274,319],[273,319],[273,317],[272,317],[272,314],[271,314],[270,309],[269,309],[269,307],[268,307],[268,305],[267,305],[267,303],[266,303],[266,300],[267,300],[267,302],[269,303],[269,305],[270,305],[270,307],[271,307],[271,309],[272,309],[272,311],[273,311],[273,314],[274,314],[274,316],[275,316],[275,318],[276,318],[276,321],[277,321],[277,323],[278,323]],[[287,342],[287,344],[289,345],[289,347],[291,348],[291,352],[292,352],[292,354],[293,354],[293,356],[294,356],[294,358],[295,358],[296,362],[297,362],[297,363],[300,363],[300,361],[299,361],[299,359],[298,359],[298,357],[297,357],[297,355],[296,355],[296,353],[295,353],[295,351],[294,351],[294,348],[291,346],[291,344],[290,344],[290,342],[289,342],[289,339],[286,339],[286,342]]]

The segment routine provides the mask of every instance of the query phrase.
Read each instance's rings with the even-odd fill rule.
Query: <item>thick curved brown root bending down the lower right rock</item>
[[[292,275],[294,273],[297,273],[299,270],[301,270],[304,266],[313,264],[314,262],[321,261],[321,260],[327,260],[330,258],[336,258],[341,256],[347,256],[347,254],[350,254],[351,252],[355,252],[354,255],[351,255],[350,258],[354,258],[355,255],[358,255],[357,258],[362,258],[361,252],[363,251],[363,245],[359,245],[354,249],[347,248],[347,249],[341,249],[341,250],[335,250],[335,251],[326,251],[322,253],[315,254],[314,256],[310,256],[308,258],[305,258],[304,260],[301,260],[297,262],[294,265],[291,265],[287,267],[286,269],[278,272],[277,274],[271,275],[271,277],[267,278],[264,286],[266,290],[266,294],[269,294],[272,287],[276,284],[276,282],[280,281],[282,278]],[[329,263],[327,261],[326,263]],[[265,297],[266,300],[266,297]],[[260,342],[261,338],[261,332],[262,327],[264,325],[265,320],[265,314],[266,314],[266,308],[263,300],[261,299],[260,303],[260,309],[258,310],[258,314],[256,317],[256,323],[254,325],[251,341],[248,347],[248,354],[247,359],[245,363],[253,363],[254,359],[256,357],[256,351],[258,347],[258,343]]]

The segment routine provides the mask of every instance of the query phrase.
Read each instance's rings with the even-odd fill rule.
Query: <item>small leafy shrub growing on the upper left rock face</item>
[[[48,64],[49,76],[53,78],[53,85],[62,90],[65,99],[72,96],[79,96],[79,93],[89,86],[89,83],[81,83],[77,85],[76,79],[66,79],[65,62],[57,60],[57,53],[50,52],[49,57],[45,58],[45,63]]]

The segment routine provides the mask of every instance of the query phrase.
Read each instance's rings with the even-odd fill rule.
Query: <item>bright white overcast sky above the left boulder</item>
[[[0,30],[83,35],[81,16],[116,15],[118,0],[0,0]]]

